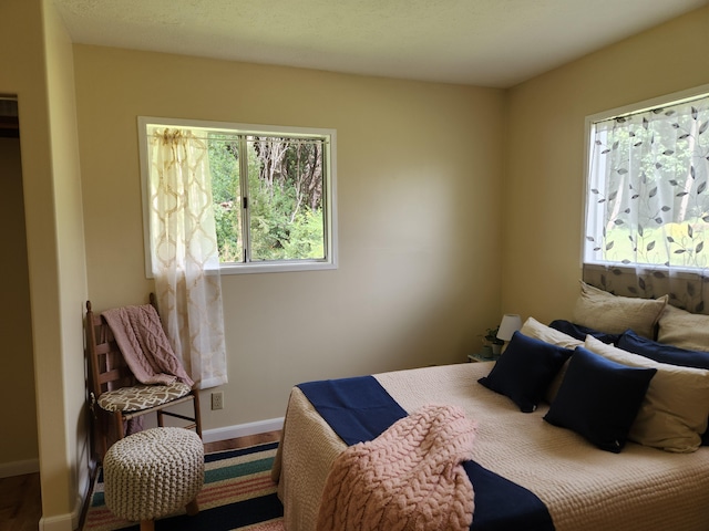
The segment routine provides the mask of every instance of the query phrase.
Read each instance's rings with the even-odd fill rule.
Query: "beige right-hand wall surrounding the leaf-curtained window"
[[[508,92],[503,308],[569,317],[578,293],[587,115],[709,83],[709,7]]]

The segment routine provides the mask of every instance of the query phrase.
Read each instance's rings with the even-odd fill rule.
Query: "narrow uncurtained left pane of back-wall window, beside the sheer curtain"
[[[219,262],[243,262],[239,143],[235,136],[209,135],[209,170]]]

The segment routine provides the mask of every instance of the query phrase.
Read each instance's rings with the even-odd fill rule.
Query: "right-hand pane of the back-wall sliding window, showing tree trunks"
[[[325,259],[322,143],[248,137],[251,261]]]

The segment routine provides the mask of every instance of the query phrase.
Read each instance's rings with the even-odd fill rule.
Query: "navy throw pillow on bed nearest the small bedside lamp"
[[[515,332],[490,374],[477,382],[532,413],[572,352]]]

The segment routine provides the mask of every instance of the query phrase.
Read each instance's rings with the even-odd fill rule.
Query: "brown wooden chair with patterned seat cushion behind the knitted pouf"
[[[151,304],[156,308],[151,293]],[[202,438],[199,394],[197,389],[176,382],[169,385],[144,385],[136,381],[123,358],[105,319],[93,313],[86,301],[86,355],[91,366],[90,398],[94,420],[94,452],[103,461],[112,441],[125,437],[124,423],[148,413],[157,414],[157,426],[164,426],[164,416],[188,424]],[[193,416],[166,410],[178,404],[192,403]]]

